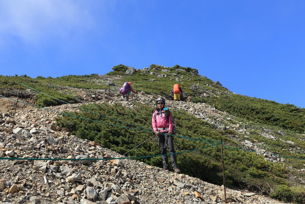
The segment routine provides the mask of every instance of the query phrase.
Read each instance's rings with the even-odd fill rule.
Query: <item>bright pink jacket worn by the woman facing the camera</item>
[[[158,130],[157,128],[168,128],[168,130]],[[172,115],[170,113],[170,116],[167,117],[164,113],[164,110],[159,113],[159,111],[155,111],[152,114],[152,129],[154,132],[159,131],[160,133],[166,132],[166,131],[173,131],[173,120]]]

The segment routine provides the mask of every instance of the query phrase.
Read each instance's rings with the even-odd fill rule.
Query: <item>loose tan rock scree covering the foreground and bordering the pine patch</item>
[[[106,95],[99,98],[103,102]],[[139,101],[151,104],[153,96],[142,93]],[[113,97],[109,103],[120,102]],[[132,102],[121,102],[133,108]],[[179,105],[179,106],[177,106]],[[245,132],[242,125],[221,121],[226,116],[206,104],[169,102],[192,112],[219,128]],[[77,111],[70,105],[49,107],[56,111]],[[223,203],[223,188],[184,174],[164,171],[122,156],[98,143],[70,135],[55,125],[58,113],[30,108],[0,114],[0,157],[91,158],[69,160],[1,160],[0,203]],[[218,120],[212,120],[217,117]],[[227,202],[281,203],[255,193],[227,188]]]

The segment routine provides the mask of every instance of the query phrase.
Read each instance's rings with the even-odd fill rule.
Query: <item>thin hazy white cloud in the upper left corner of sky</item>
[[[69,37],[91,28],[93,17],[84,5],[70,0],[1,0],[0,37],[39,43]]]

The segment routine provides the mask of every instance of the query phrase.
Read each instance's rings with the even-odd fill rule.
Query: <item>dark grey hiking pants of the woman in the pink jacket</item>
[[[158,142],[159,142],[159,147],[160,147],[160,150],[161,150],[161,154],[167,154],[166,147],[164,147],[164,143],[165,143],[165,140],[166,140],[165,137],[168,137],[167,138],[167,144],[166,144],[167,148],[168,148],[168,152],[169,153],[176,153],[175,148],[174,148],[174,138],[173,138],[173,136],[159,134]],[[161,156],[161,158],[162,158],[162,161],[163,161],[163,168],[170,169],[170,165],[168,163],[167,155]],[[178,168],[176,154],[171,154],[170,155],[170,161],[172,163],[173,169]]]

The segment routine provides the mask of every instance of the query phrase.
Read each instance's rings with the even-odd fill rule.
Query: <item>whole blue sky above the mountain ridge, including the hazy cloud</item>
[[[1,75],[176,64],[305,108],[305,1],[0,1]]]

